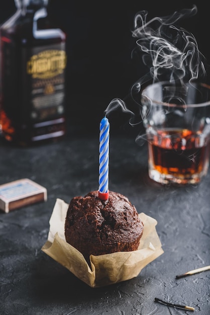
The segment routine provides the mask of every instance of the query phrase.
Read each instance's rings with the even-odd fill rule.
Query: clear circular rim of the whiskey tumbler
[[[194,91],[199,91],[199,89],[205,90],[208,94],[208,100],[206,101],[201,101],[198,103],[184,103],[183,104],[176,104],[173,102],[163,102],[158,99],[155,99],[155,97],[149,96],[149,90],[155,89],[157,87],[165,87],[165,88],[176,88],[176,89],[181,89],[181,88],[193,88]],[[201,90],[199,91],[201,93]],[[199,108],[199,107],[206,107],[210,105],[210,85],[202,82],[197,82],[197,81],[192,81],[192,82],[170,82],[170,81],[160,81],[160,82],[155,82],[152,84],[147,85],[146,87],[143,88],[141,92],[141,99],[144,100],[144,102],[147,100],[149,101],[150,105],[161,105],[161,106],[166,106],[166,107],[178,107],[178,108]]]

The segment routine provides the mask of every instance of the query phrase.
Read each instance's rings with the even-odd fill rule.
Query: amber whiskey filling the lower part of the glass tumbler
[[[148,135],[150,177],[161,174],[177,183],[199,182],[208,169],[210,145],[201,132],[190,130],[163,130]],[[156,175],[154,175],[156,174]]]

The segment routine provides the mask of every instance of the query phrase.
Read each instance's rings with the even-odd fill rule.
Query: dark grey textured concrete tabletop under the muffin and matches
[[[98,127],[99,128],[99,127]],[[112,130],[112,129],[111,129]],[[149,180],[147,146],[111,132],[110,190],[157,219],[164,254],[131,280],[92,289],[41,251],[56,198],[98,189],[98,130],[70,130],[57,143],[18,148],[1,143],[0,184],[30,178],[47,188],[45,203],[0,212],[2,315],[188,314],[155,297],[210,313],[210,271],[175,279],[210,264],[210,173],[199,185],[164,187]],[[193,312],[192,312],[193,313]]]

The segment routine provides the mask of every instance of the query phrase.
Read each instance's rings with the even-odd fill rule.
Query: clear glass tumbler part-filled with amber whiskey
[[[194,184],[207,174],[210,86],[158,82],[141,92],[149,177],[161,184]]]

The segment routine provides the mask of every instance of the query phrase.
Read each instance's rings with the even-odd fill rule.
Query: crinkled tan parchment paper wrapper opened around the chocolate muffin
[[[57,199],[51,218],[48,240],[42,251],[66,267],[90,287],[101,287],[132,279],[163,250],[156,232],[157,221],[140,213],[144,231],[137,251],[90,255],[90,267],[83,255],[65,241],[64,224],[68,204]]]

